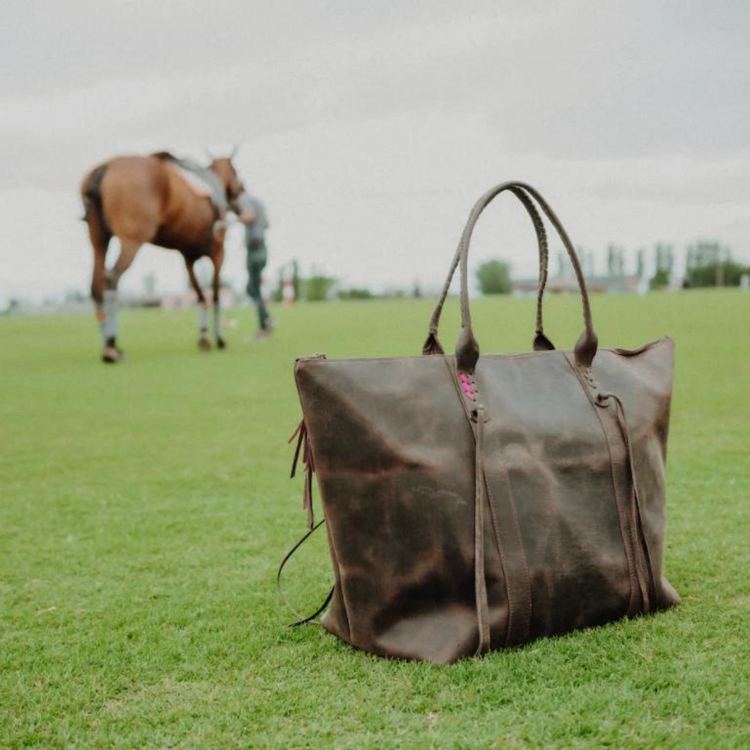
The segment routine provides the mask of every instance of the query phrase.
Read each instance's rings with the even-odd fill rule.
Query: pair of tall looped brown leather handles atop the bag
[[[430,319],[430,328],[429,328],[427,340],[425,341],[425,345],[423,348],[423,353],[433,354],[433,353],[443,351],[442,346],[440,345],[437,339],[440,316],[442,313],[443,304],[445,303],[445,299],[448,294],[448,288],[453,279],[453,275],[455,274],[456,267],[460,267],[461,334],[459,335],[458,343],[456,344],[456,364],[459,370],[467,372],[467,373],[473,373],[474,368],[476,367],[477,360],[479,359],[479,344],[477,343],[477,340],[474,338],[474,333],[471,327],[471,311],[469,309],[469,285],[468,285],[469,244],[471,242],[471,236],[474,231],[474,226],[476,225],[477,220],[482,214],[482,211],[484,211],[487,205],[496,196],[498,196],[500,193],[506,190],[510,190],[517,198],[519,198],[519,200],[524,204],[527,210],[529,210],[528,209],[529,205],[533,206],[533,203],[531,200],[531,198],[533,198],[536,201],[536,203],[539,205],[541,210],[544,212],[544,214],[547,216],[550,223],[555,228],[555,230],[557,231],[557,234],[562,240],[562,243],[573,265],[573,270],[575,271],[576,279],[578,281],[578,287],[581,292],[581,302],[583,306],[584,331],[579,337],[578,341],[576,342],[576,345],[574,348],[576,364],[584,368],[590,367],[594,357],[596,356],[596,351],[598,348],[598,341],[597,341],[596,333],[594,331],[593,323],[591,320],[591,306],[589,303],[588,291],[586,289],[586,281],[583,278],[583,272],[581,270],[581,264],[578,260],[578,255],[576,254],[575,248],[573,247],[573,243],[571,242],[570,237],[568,236],[568,233],[565,231],[565,227],[563,227],[562,222],[557,217],[557,214],[555,214],[555,212],[548,205],[548,203],[544,200],[544,198],[531,185],[528,185],[527,183],[524,183],[524,182],[517,182],[517,181],[503,182],[500,185],[497,185],[494,188],[488,190],[476,202],[476,204],[474,205],[474,208],[469,214],[469,219],[466,223],[466,226],[464,227],[463,233],[461,234],[461,239],[458,243],[456,253],[453,257],[453,261],[451,262],[451,269],[448,274],[448,278],[446,279],[445,285],[443,287],[443,292],[432,314],[432,318]],[[524,200],[524,197],[526,198],[526,200]],[[537,336],[534,340],[534,349],[536,350],[553,349],[554,347],[552,343],[549,341],[549,339],[547,339],[544,336],[544,333],[542,330],[542,315],[541,315],[542,296],[544,293],[544,286],[546,285],[546,280],[547,280],[547,266],[548,266],[549,251],[547,248],[546,235],[541,234],[538,229],[538,226],[542,224],[542,220],[541,220],[541,217],[539,216],[538,211],[536,211],[536,208],[534,208],[532,211],[529,211],[529,214],[531,215],[532,221],[534,221],[535,229],[537,230],[537,238],[539,240],[539,259],[540,259],[539,292],[537,295]],[[542,232],[543,232],[543,224],[542,224]]]

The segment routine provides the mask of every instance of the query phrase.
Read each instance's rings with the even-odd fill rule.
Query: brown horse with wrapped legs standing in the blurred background
[[[216,345],[226,344],[221,335],[219,282],[224,260],[225,215],[227,208],[239,213],[237,198],[244,188],[231,156],[213,159],[207,176],[220,193],[211,200],[186,179],[174,157],[163,152],[150,156],[117,156],[92,169],[83,179],[81,197],[84,220],[94,248],[91,296],[102,332],[105,362],[118,362],[117,285],[141,246],[149,242],[179,250],[185,259],[190,283],[200,304],[201,349],[210,349],[208,305],[195,276],[198,258],[207,256],[214,266],[213,306]],[[112,268],[106,254],[112,237],[120,240],[120,255]]]

